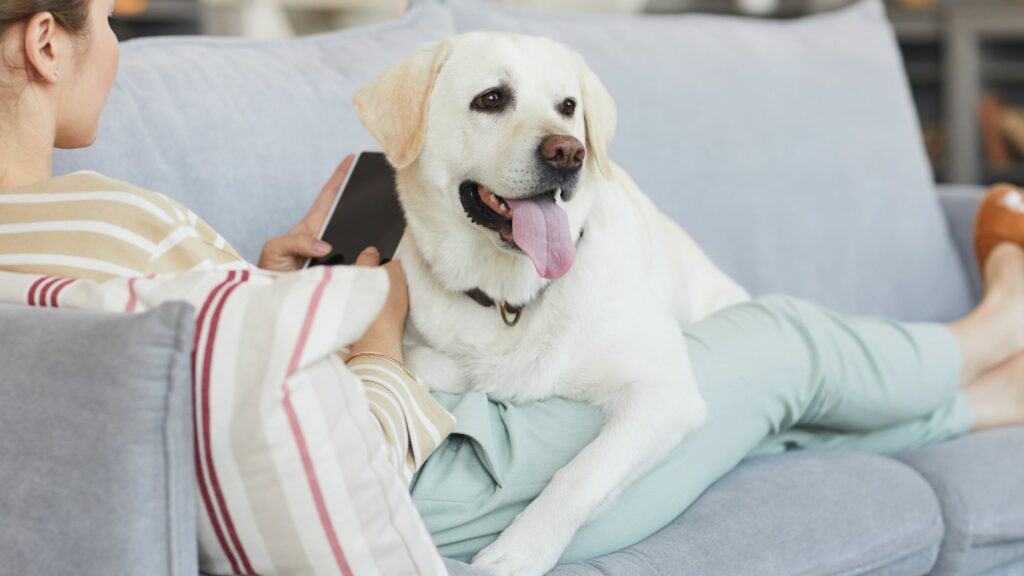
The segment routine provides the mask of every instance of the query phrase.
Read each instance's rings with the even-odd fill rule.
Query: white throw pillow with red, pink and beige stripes
[[[435,575],[364,385],[336,351],[387,295],[379,269],[195,271],[105,282],[0,273],[0,301],[196,308],[200,566],[211,574]]]

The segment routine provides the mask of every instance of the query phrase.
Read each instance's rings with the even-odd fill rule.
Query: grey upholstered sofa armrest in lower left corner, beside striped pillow
[[[196,573],[191,316],[0,304],[0,572]]]

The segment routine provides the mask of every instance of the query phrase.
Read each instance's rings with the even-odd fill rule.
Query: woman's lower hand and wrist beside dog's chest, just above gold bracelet
[[[376,266],[380,264],[380,253],[371,246],[359,253],[355,259],[355,265]],[[406,317],[409,315],[409,288],[406,286],[406,273],[401,270],[399,260],[391,260],[382,268],[387,272],[390,281],[387,300],[374,323],[370,325],[358,341],[349,346],[349,351],[351,354],[376,352],[398,362],[403,362],[401,358],[401,333],[406,329]]]

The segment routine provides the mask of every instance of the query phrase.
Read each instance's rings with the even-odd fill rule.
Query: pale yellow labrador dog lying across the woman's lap
[[[748,299],[608,160],[615,105],[544,38],[427,44],[355,95],[408,219],[410,367],[432,387],[593,403],[600,435],[473,561],[551,569],[577,530],[698,427],[680,332]]]

